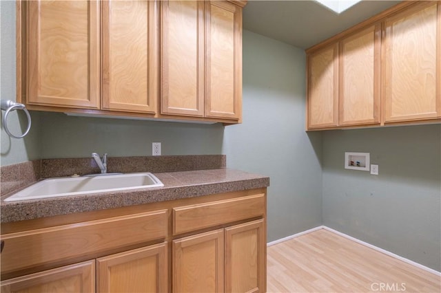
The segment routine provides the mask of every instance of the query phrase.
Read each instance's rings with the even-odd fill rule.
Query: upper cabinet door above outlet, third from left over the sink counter
[[[204,1],[161,1],[161,113],[204,115]]]

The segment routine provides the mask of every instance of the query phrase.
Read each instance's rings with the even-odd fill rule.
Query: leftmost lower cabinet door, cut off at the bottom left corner
[[[94,260],[1,281],[1,293],[89,293],[94,291]]]

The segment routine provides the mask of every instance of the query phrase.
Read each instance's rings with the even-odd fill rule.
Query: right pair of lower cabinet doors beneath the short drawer
[[[173,241],[173,292],[265,292],[264,220]]]

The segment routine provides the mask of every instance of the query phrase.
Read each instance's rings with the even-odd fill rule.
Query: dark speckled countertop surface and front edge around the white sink
[[[5,197],[2,196],[1,222],[119,208],[269,186],[269,177],[225,168],[174,171],[154,173],[154,175],[163,182],[164,187],[3,202],[5,197],[13,194],[10,193]]]

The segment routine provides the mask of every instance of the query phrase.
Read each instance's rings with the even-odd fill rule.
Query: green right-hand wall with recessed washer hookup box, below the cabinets
[[[379,175],[344,169],[370,153]],[[323,224],[441,271],[441,125],[323,133]]]

